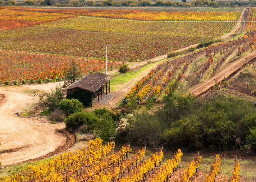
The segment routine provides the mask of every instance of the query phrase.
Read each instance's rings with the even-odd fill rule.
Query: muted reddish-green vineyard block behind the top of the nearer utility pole
[[[24,27],[1,31],[0,49],[103,58],[102,45],[110,44],[110,60],[142,61],[194,44],[198,39]]]

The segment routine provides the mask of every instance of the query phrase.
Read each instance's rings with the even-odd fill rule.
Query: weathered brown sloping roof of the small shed
[[[93,73],[86,75],[76,81],[75,83],[69,85],[65,90],[70,90],[70,89],[83,89],[83,90],[88,90],[90,92],[96,92],[97,90],[100,89],[100,87],[106,82],[108,82],[112,76],[106,75],[104,73]]]

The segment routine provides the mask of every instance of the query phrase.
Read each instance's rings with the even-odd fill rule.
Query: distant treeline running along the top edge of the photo
[[[29,5],[29,6],[97,6],[97,7],[145,7],[145,6],[156,6],[156,7],[241,7],[247,6],[246,3],[236,2],[216,2],[214,0],[193,0],[187,2],[187,0],[177,1],[151,1],[151,0],[25,0],[25,1],[15,1],[15,0],[0,0],[0,5]],[[249,1],[250,6],[256,6],[256,1]]]

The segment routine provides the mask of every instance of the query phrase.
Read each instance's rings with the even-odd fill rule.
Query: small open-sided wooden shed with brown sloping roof
[[[100,95],[102,98],[103,94],[110,92],[111,78],[112,76],[103,73],[86,75],[65,89],[67,98],[78,99],[84,106],[90,106],[95,97],[98,97],[99,100]]]

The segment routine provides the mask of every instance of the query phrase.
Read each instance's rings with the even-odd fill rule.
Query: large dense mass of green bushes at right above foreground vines
[[[176,83],[170,86],[165,106],[154,114],[135,115],[125,142],[188,151],[250,148],[256,152],[254,103],[219,93],[197,100],[179,96],[176,88]]]

